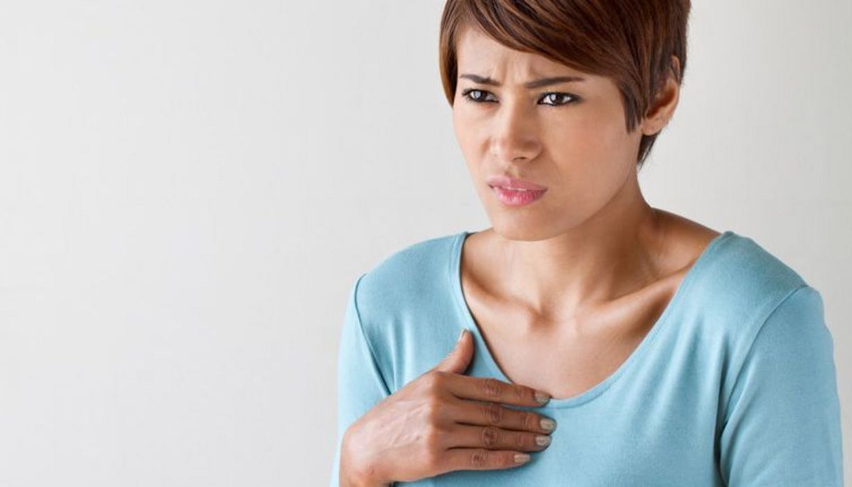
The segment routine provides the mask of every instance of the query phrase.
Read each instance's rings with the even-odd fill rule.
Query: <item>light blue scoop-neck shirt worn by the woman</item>
[[[343,432],[435,367],[462,328],[475,339],[465,374],[510,382],[464,301],[459,263],[467,235],[408,246],[354,281],[338,351],[332,486]],[[833,340],[820,293],[731,230],[705,248],[653,328],[607,379],[544,407],[507,407],[555,419],[550,446],[520,467],[452,471],[410,484],[843,484]]]

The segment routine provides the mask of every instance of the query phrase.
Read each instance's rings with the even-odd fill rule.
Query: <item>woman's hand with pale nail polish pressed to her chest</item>
[[[555,421],[500,404],[541,406],[550,397],[544,394],[539,402],[533,388],[463,375],[473,350],[473,337],[465,330],[435,368],[348,427],[341,485],[389,485],[452,470],[518,467],[529,455],[520,461],[516,455],[547,448]]]

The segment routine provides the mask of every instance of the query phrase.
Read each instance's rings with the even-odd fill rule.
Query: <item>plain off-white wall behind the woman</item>
[[[324,485],[354,279],[487,228],[442,0],[0,7],[0,485]],[[652,206],[822,293],[852,472],[852,3],[695,2]]]

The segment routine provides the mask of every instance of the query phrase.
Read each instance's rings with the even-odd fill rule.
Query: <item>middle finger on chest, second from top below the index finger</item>
[[[550,434],[556,420],[533,411],[512,409],[498,403],[478,403],[457,399],[446,405],[447,415],[457,423],[475,426],[498,426],[506,430]]]

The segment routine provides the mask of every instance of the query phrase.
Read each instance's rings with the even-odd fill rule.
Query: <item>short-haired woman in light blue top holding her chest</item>
[[[820,293],[637,183],[689,9],[446,3],[441,75],[492,228],[354,282],[332,485],[842,484]]]

